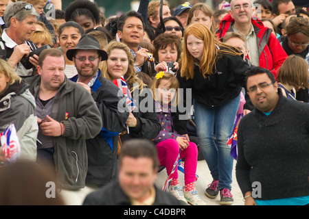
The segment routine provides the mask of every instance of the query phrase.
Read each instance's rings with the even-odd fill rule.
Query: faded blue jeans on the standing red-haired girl
[[[219,181],[219,190],[231,190],[233,157],[227,140],[233,131],[239,103],[240,95],[225,105],[214,108],[194,102],[198,141],[211,176]]]

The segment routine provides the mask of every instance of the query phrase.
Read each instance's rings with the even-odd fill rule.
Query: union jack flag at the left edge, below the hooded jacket
[[[0,138],[6,162],[9,164],[19,159],[21,145],[14,124],[9,125],[3,133],[0,133]]]

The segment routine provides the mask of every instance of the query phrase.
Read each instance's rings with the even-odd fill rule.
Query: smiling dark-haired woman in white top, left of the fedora
[[[69,21],[63,23],[59,27],[59,44],[64,54],[67,54],[69,49],[74,49],[80,38],[84,34],[84,29],[78,23]],[[74,62],[65,55],[65,75],[68,78],[77,75],[78,72],[74,66]]]

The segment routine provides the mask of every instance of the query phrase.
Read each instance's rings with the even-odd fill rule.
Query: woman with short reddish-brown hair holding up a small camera
[[[160,34],[153,41],[155,47],[155,66],[157,73],[170,72],[176,75],[179,68],[178,60],[181,55],[181,40],[174,34]]]

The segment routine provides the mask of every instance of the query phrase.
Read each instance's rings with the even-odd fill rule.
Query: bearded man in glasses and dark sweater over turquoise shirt
[[[251,68],[246,81],[255,109],[238,127],[244,205],[308,205],[309,105],[284,97],[266,68]]]

